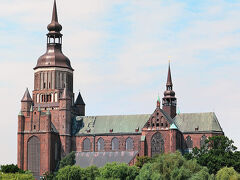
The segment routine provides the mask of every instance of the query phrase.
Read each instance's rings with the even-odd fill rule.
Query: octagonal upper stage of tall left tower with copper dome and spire
[[[74,70],[70,60],[62,52],[62,25],[58,22],[56,0],[47,29],[47,51],[38,59],[34,68],[33,100],[36,107],[57,109],[64,89],[67,90],[73,105]]]

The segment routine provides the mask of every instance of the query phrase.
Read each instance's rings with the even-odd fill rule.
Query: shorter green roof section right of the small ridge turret
[[[181,113],[174,118],[174,121],[183,133],[223,132],[214,112]]]

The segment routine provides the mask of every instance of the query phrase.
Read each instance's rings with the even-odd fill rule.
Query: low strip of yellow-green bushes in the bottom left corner
[[[1,180],[34,180],[30,173],[0,173]]]

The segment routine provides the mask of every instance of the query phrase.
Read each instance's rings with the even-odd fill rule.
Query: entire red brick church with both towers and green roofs
[[[224,134],[213,112],[176,113],[170,65],[164,96],[151,114],[86,116],[80,93],[74,97],[73,71],[62,52],[62,26],[56,2],[48,25],[47,51],[34,67],[18,115],[18,166],[37,176],[54,171],[61,158],[76,152],[76,164],[134,164],[137,156],[191,151],[209,136]],[[76,100],[75,100],[76,99]]]

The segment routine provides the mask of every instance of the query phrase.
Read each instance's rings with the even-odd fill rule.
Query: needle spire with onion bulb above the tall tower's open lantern
[[[60,31],[62,30],[61,24],[58,23],[56,0],[54,0],[53,4],[52,22],[48,25],[47,28],[50,33],[60,33]]]

